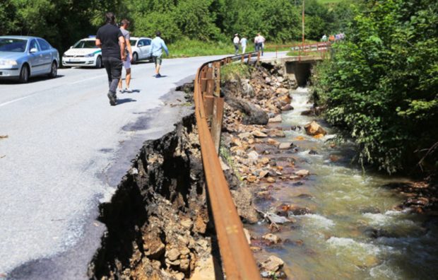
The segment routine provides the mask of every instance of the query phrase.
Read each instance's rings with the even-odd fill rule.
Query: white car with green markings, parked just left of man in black
[[[96,37],[79,40],[62,55],[62,66],[91,66],[102,68],[102,49],[96,47]]]

